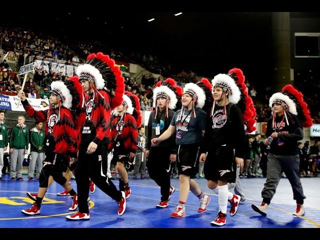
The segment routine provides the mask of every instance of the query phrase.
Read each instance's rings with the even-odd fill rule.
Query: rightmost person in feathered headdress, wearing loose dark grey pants
[[[282,92],[274,93],[269,99],[272,117],[267,122],[265,144],[270,145],[266,181],[262,189],[263,198],[260,206],[252,204],[252,209],[265,216],[268,205],[275,193],[281,173],[288,178],[296,209],[293,215],[305,213],[305,196],[300,181],[300,158],[297,141],[303,139],[303,128],[312,125],[310,112],[301,92],[292,85],[286,85]]]

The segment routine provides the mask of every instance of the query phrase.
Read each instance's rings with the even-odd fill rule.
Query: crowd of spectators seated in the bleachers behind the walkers
[[[184,69],[177,71],[169,63],[162,63],[156,55],[150,53],[126,52],[125,50],[117,50],[106,46],[100,41],[79,41],[76,44],[63,44],[60,40],[52,36],[43,36],[42,33],[34,33],[30,30],[23,30],[21,28],[5,28],[0,27],[0,38],[2,38],[2,48],[4,51],[12,51],[8,55],[17,59],[18,65],[28,63],[33,59],[49,60],[52,62],[60,62],[68,65],[78,65],[85,62],[85,58],[91,52],[103,51],[110,55],[110,57],[137,63],[153,73],[160,73],[162,78],[155,79],[153,75],[143,75],[141,83],[131,77],[126,77],[126,90],[135,93],[140,98],[140,103],[143,109],[149,110],[152,107],[152,90],[158,80],[163,80],[166,77],[172,77],[177,81],[178,85],[188,82],[196,82],[198,80],[196,73],[192,70],[184,71]],[[3,52],[4,53],[4,52]],[[3,54],[2,53],[2,54]],[[24,59],[24,54],[27,53]],[[20,90],[22,77],[10,71],[8,64],[0,58],[0,90],[1,94],[15,94]],[[4,69],[4,70],[3,70]],[[50,84],[54,80],[64,80],[68,76],[63,72],[47,72],[37,70],[33,76],[33,83],[28,80],[24,91],[30,93],[32,97],[46,98],[47,92],[50,90]],[[311,77],[312,79],[312,77]],[[316,89],[318,89],[316,79],[301,81],[296,80],[296,85],[301,89],[309,105],[311,115],[314,123],[320,123],[318,103],[319,97]],[[271,87],[265,85],[264,93],[257,92],[254,85],[250,81],[246,81],[248,94],[252,97],[253,103],[257,112],[256,120],[259,122],[267,121],[271,115],[268,106],[268,100],[271,96]],[[44,88],[47,90],[44,91]]]

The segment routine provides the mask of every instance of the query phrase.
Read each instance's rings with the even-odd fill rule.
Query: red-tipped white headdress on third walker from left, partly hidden
[[[135,94],[125,91],[123,94],[122,105],[124,106],[124,113],[121,116],[124,117],[123,121],[125,121],[125,113],[128,113],[134,117],[136,121],[136,127],[140,127],[142,123],[142,115],[140,111],[141,108],[139,98]],[[115,110],[113,114],[118,115],[118,112]]]

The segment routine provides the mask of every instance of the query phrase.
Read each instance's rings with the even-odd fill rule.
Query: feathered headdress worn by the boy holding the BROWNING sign
[[[69,109],[74,117],[76,117],[80,111],[80,102],[82,101],[82,87],[77,77],[70,77],[66,81],[53,81],[51,83],[51,91],[56,95],[59,107],[62,105]],[[49,108],[50,109],[50,108]],[[50,114],[48,114],[49,116]],[[60,114],[58,119],[60,118]]]

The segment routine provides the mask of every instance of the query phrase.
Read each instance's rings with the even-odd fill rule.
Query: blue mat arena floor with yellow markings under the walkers
[[[301,178],[306,213],[294,216],[295,201],[286,178],[280,180],[277,191],[271,201],[266,216],[261,216],[251,208],[252,203],[261,202],[261,189],[265,178],[241,178],[246,200],[239,205],[237,214],[227,214],[224,226],[211,226],[218,211],[218,197],[206,186],[206,180],[196,178],[201,189],[209,194],[211,201],[207,210],[198,213],[199,201],[191,192],[186,203],[186,217],[172,218],[179,197],[179,180],[171,178],[171,185],[176,188],[167,208],[156,208],[160,199],[160,189],[151,179],[132,179],[129,173],[131,196],[127,199],[127,208],[122,216],[117,215],[117,203],[100,189],[90,194],[90,220],[67,221],[66,215],[71,205],[69,196],[58,196],[62,187],[55,182],[48,189],[40,215],[26,216],[22,209],[28,208],[32,201],[26,192],[37,192],[38,181],[11,181],[9,175],[2,175],[0,181],[0,227],[1,228],[319,228],[320,227],[320,188],[319,177]],[[116,186],[118,181],[113,180]],[[73,187],[75,180],[71,181]],[[75,187],[76,189],[76,187]],[[229,206],[228,206],[229,209]],[[11,231],[10,231],[11,232]]]

